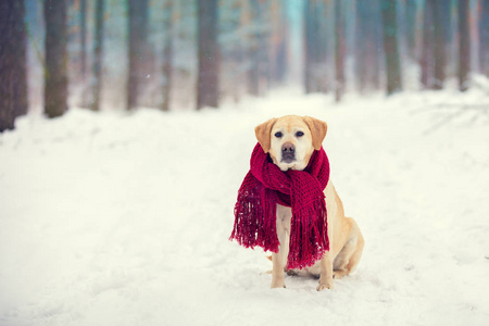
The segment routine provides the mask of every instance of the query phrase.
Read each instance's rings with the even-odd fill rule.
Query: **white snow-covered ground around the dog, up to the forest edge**
[[[0,325],[489,325],[489,96],[276,91],[221,110],[71,110],[0,135]],[[317,292],[228,241],[254,126],[325,120],[366,246]]]

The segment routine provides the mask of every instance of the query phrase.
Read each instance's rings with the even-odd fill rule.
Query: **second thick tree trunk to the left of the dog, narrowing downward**
[[[143,84],[145,64],[148,60],[148,1],[128,0],[128,57],[127,110],[136,109]]]

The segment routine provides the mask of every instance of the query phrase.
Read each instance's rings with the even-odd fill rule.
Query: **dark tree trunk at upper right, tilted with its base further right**
[[[384,26],[384,53],[386,55],[387,95],[402,90],[401,63],[398,47],[397,2],[380,0]]]

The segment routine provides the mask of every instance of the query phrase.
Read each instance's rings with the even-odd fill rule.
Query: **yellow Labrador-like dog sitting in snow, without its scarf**
[[[255,135],[263,151],[281,171],[304,170],[314,152],[319,150],[327,124],[310,116],[286,115],[256,126]],[[306,273],[319,277],[317,290],[333,289],[334,279],[349,275],[362,256],[364,238],[356,222],[344,216],[343,204],[329,180],[324,193],[327,209],[329,251]],[[279,251],[272,253],[271,288],[285,288],[284,271],[289,251],[291,209],[277,204],[277,238]],[[293,272],[293,271],[292,271]]]

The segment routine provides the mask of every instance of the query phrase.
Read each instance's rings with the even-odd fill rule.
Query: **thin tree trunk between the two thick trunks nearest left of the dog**
[[[173,72],[173,3],[174,0],[166,0],[165,21],[164,21],[164,46],[163,46],[163,64],[162,64],[162,111],[170,111],[171,90],[172,90],[172,72]]]

